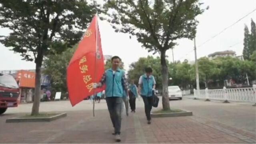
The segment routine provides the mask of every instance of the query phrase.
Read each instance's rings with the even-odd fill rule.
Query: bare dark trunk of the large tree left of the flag
[[[43,54],[38,53],[36,62],[36,82],[35,82],[35,95],[34,102],[32,106],[31,116],[39,114],[39,105],[41,98],[41,68],[42,68]]]

